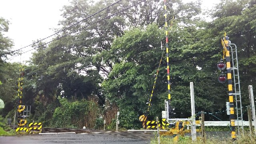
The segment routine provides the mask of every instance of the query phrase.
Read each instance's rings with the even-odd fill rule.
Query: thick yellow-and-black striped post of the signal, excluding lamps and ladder
[[[229,102],[230,102],[231,138],[233,140],[235,140],[236,139],[236,131],[235,131],[235,115],[234,115],[234,98],[233,98],[233,90],[232,90],[232,76],[231,76],[231,67],[230,67],[230,53],[229,53],[229,45],[228,45],[228,36],[226,36],[226,32],[224,34],[224,38],[221,43],[222,43],[222,46],[224,49],[224,54],[226,54],[227,77],[228,77],[228,96],[229,96]]]

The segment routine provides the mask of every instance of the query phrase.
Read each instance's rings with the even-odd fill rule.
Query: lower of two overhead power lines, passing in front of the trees
[[[92,22],[91,24],[88,24],[88,25],[86,25],[86,26],[83,26],[82,28],[79,28],[79,29],[77,29],[77,30],[74,30],[74,31],[72,31],[72,32],[69,32],[68,34],[65,34],[65,35],[63,35],[63,36],[60,36],[59,38],[56,38],[56,39],[51,40],[51,41],[49,41],[49,42],[46,42],[45,44],[42,44],[42,45],[37,46],[37,47],[35,47],[35,48],[32,48],[32,49],[30,49],[30,50],[28,50],[28,51],[26,51],[26,52],[29,52],[29,51],[34,50],[34,49],[36,49],[36,48],[40,48],[41,46],[44,46],[44,45],[46,45],[46,44],[49,44],[50,42],[54,42],[54,41],[56,41],[56,40],[58,40],[58,39],[60,39],[60,38],[63,38],[63,37],[65,37],[65,36],[68,36],[68,35],[70,35],[70,34],[72,34],[72,33],[74,33],[74,32],[78,32],[78,31],[81,30],[81,29],[84,29],[84,28],[86,28],[86,27],[88,27],[88,26],[91,26],[91,25],[96,24],[96,23],[98,23],[98,22],[100,22],[100,21],[102,21],[102,20],[105,20],[105,19],[107,19],[107,18],[109,18],[109,17],[112,17],[112,16],[114,16],[114,15],[116,15],[116,14],[118,14],[118,13],[124,11],[124,10],[127,10],[127,9],[129,9],[129,8],[131,8],[131,7],[135,6],[135,5],[137,5],[137,4],[140,4],[141,2],[144,2],[144,1],[145,1],[145,0],[142,0],[142,1],[140,1],[140,2],[136,2],[136,3],[134,3],[134,4],[131,5],[131,6],[128,6],[128,7],[126,7],[126,8],[123,8],[122,10],[119,10],[118,12],[115,12],[114,14],[111,14],[111,15],[106,16],[106,17],[104,17],[104,18],[102,18],[102,19],[100,19],[100,20],[97,20],[97,21],[95,21],[95,22]],[[26,52],[23,52],[22,54],[24,54],[24,53],[26,53]],[[16,55],[16,56],[18,56],[18,55]],[[16,57],[16,56],[13,56],[13,57],[11,57],[11,58],[14,58],[14,57]],[[11,59],[11,58],[8,58],[8,59],[6,59],[6,60],[9,60],[9,59]]]

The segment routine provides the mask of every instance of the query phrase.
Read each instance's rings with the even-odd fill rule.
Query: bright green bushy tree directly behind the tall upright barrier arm
[[[172,36],[169,52],[172,86],[171,104],[176,112],[173,117],[177,118],[190,116],[190,82],[195,83],[196,107],[198,109],[216,111],[224,107],[218,105],[223,98],[219,96],[220,94],[216,94],[216,89],[220,84],[212,82],[215,81],[214,76],[217,77],[217,74],[212,75],[212,72],[208,72],[207,67],[204,68],[203,66],[204,62],[201,61],[201,55],[207,53],[208,50],[200,48],[202,45],[192,36],[193,34],[195,37],[200,36],[200,31],[191,33],[184,28],[174,25],[170,31],[170,36]],[[196,27],[194,27],[195,29]],[[102,52],[106,59],[115,63],[108,79],[102,84],[104,94],[110,102],[116,102],[120,111],[123,111],[123,119],[120,116],[120,120],[126,121],[124,123],[126,128],[138,124],[127,122],[127,119],[136,120],[138,114],[145,114],[146,112],[146,102],[150,96],[158,62],[162,55],[161,41],[164,42],[164,30],[159,29],[156,24],[152,24],[145,30],[134,28],[125,32],[124,36],[113,42],[110,51]],[[180,45],[181,42],[182,45]],[[160,116],[161,111],[164,110],[164,99],[167,99],[168,95],[166,61],[164,59],[152,99],[150,110],[152,118]],[[199,66],[202,66],[201,70],[198,70]],[[212,87],[216,88],[212,89]],[[220,107],[216,107],[216,105]],[[130,118],[126,118],[127,116]]]

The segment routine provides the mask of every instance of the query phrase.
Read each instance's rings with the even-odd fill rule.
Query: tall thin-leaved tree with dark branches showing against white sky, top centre
[[[72,41],[70,42],[73,44],[73,50],[78,57],[84,58],[85,61],[82,63],[84,69],[93,69],[98,72],[101,71],[104,76],[108,76],[114,63],[112,63],[112,60],[105,59],[102,52],[110,50],[112,42],[117,36],[122,36],[124,30],[132,27],[142,28],[152,23],[157,23],[159,27],[164,26],[164,18],[162,16],[164,9],[162,7],[162,2],[151,0],[134,5],[137,2],[137,0],[119,2],[118,4],[111,6],[111,8],[97,14],[96,18],[89,18],[82,22],[80,22],[80,20],[83,20],[98,10],[114,3],[114,0],[100,0],[92,4],[89,4],[90,2],[88,0],[74,0],[71,2],[70,6],[64,6],[62,16],[65,19],[60,22],[60,24],[63,25],[63,28],[67,28],[70,25],[80,22],[76,26],[68,28],[64,34],[77,30],[77,35],[75,35],[74,39],[71,39]],[[181,0],[168,1],[168,7],[171,8],[174,5],[176,9],[168,10],[168,14],[171,15],[168,18],[172,19],[172,16],[176,15],[178,17],[175,19],[184,24],[195,20],[193,16],[196,16],[200,12],[199,1],[186,4],[182,3]],[[132,7],[116,13],[118,10],[128,6]],[[189,6],[192,6],[193,8],[188,9]],[[96,24],[90,25],[92,22],[112,14],[114,15],[101,20]],[[90,26],[80,29],[82,26],[87,25]]]

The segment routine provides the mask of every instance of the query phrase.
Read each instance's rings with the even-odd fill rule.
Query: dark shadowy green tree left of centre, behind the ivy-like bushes
[[[98,88],[99,74],[93,70],[87,71],[87,75],[82,74],[84,60],[73,53],[70,38],[61,38],[48,46],[36,44],[34,47],[38,48],[30,65],[26,66],[24,104],[32,106],[33,120],[44,122],[46,126],[50,126],[55,109],[60,109],[58,97],[103,102]],[[70,125],[75,124],[71,122]]]

